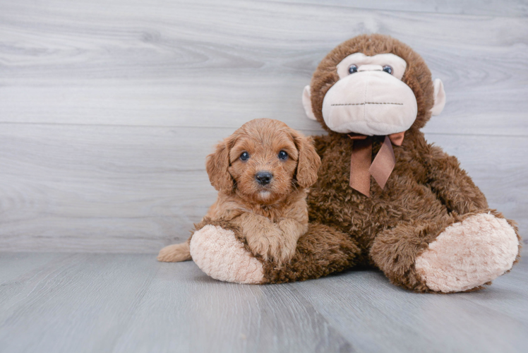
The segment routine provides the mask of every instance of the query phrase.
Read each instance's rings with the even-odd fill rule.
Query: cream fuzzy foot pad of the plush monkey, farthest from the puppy
[[[436,292],[462,292],[512,268],[519,241],[503,218],[473,215],[447,227],[416,258],[416,272]]]

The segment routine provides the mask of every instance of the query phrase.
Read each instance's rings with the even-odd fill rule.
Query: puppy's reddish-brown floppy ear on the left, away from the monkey
[[[234,186],[233,177],[229,174],[229,150],[231,150],[231,145],[231,138],[226,138],[216,146],[214,153],[207,156],[205,162],[209,181],[217,191],[229,191]]]

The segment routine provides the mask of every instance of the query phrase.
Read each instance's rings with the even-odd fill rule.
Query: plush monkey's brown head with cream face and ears
[[[306,115],[328,131],[384,136],[423,127],[445,92],[419,54],[386,35],[360,35],[333,49],[303,92]]]

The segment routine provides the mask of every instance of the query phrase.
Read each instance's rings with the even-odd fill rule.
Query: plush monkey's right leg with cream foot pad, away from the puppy
[[[495,210],[406,222],[376,236],[370,256],[395,285],[416,292],[480,289],[512,268],[520,242]]]

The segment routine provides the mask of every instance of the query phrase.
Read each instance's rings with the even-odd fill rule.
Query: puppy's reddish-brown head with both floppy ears
[[[217,190],[254,203],[273,203],[317,179],[320,158],[310,138],[281,121],[255,119],[217,145],[207,169]]]

